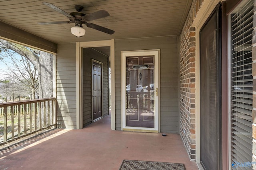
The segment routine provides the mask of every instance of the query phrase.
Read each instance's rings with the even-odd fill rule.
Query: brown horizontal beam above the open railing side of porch
[[[0,21],[0,38],[12,41],[15,43],[22,43],[29,47],[40,49],[43,51],[57,53],[57,44],[42,37],[38,37],[32,33],[9,25]]]

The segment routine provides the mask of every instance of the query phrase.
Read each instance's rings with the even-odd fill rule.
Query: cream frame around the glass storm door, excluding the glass
[[[155,116],[154,128],[146,127],[128,127],[126,126],[126,56],[156,56],[154,80],[157,80],[155,88],[158,88],[158,96],[154,101],[157,115]],[[136,51],[121,51],[121,130],[122,131],[140,131],[140,132],[160,132],[160,49],[152,50],[136,50]]]

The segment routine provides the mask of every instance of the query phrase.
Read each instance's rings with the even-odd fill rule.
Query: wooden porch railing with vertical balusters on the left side
[[[0,145],[56,127],[56,99],[0,104]]]

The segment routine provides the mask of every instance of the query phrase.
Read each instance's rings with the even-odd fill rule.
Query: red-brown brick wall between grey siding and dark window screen
[[[180,136],[191,160],[196,158],[196,43],[195,27],[191,27],[204,0],[193,0],[180,34]]]

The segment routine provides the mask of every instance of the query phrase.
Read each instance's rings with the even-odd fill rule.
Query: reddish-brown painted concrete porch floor
[[[42,136],[0,151],[0,170],[118,170],[124,159],[198,170],[180,135],[112,131],[110,116],[84,129],[54,129]]]

